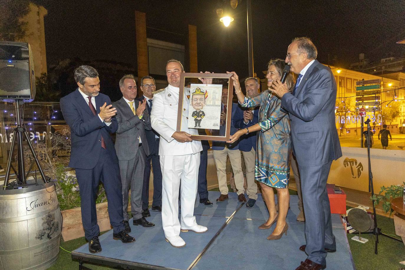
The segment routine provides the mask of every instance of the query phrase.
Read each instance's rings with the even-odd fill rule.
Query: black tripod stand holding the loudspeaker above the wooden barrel
[[[3,190],[14,189],[14,188],[22,187],[23,185],[27,185],[27,176],[28,176],[29,172],[27,172],[27,174],[25,174],[23,136],[25,137],[27,145],[30,148],[32,157],[34,157],[36,166],[38,167],[42,180],[44,181],[44,183],[49,182],[49,180],[47,179],[47,176],[45,176],[45,174],[41,168],[41,165],[39,164],[38,157],[36,156],[34,147],[32,147],[32,143],[31,143],[30,137],[28,136],[27,129],[24,128],[23,119],[21,118],[21,114],[20,114],[20,104],[21,103],[22,102],[20,100],[15,100],[15,103],[14,103],[15,104],[15,115],[17,117],[17,126],[14,128],[14,131],[13,131],[13,141],[11,142],[9,159],[7,161],[6,175],[4,178]],[[11,183],[9,183],[10,170],[12,168],[11,160],[13,158],[13,151],[14,151],[14,147],[16,144],[17,144],[17,153],[18,153],[17,154],[18,172],[16,172],[14,168],[13,168],[13,170],[14,170],[15,174],[17,175],[17,183],[15,185],[11,185]]]

